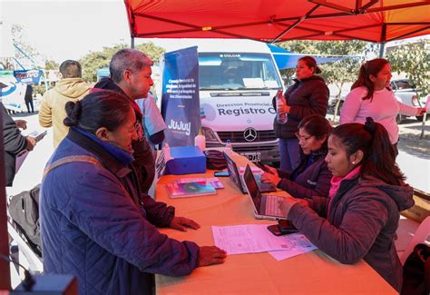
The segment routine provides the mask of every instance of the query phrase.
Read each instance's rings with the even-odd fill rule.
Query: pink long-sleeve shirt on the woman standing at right
[[[366,117],[372,117],[375,122],[386,127],[390,142],[397,143],[397,114],[412,116],[416,114],[416,108],[398,102],[395,93],[386,88],[375,91],[373,99],[364,101],[363,97],[366,96],[366,93],[366,87],[357,87],[347,94],[340,110],[340,123],[365,123]]]

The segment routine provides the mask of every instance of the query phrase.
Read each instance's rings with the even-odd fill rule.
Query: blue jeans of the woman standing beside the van
[[[300,163],[300,146],[297,138],[279,138],[280,170],[292,172]]]

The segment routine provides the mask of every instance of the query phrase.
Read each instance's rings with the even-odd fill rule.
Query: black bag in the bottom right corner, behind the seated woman
[[[417,244],[403,266],[402,295],[430,293],[430,247]]]

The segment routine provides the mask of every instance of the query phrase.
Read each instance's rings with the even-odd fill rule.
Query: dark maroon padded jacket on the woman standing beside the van
[[[301,81],[295,80],[285,92],[287,104],[291,107],[288,113],[288,122],[280,124],[276,118],[273,123],[275,135],[278,138],[296,138],[298,123],[309,114],[318,113],[326,116],[328,104],[328,87],[324,79],[313,75]],[[276,109],[276,97],[273,98],[273,106]]]

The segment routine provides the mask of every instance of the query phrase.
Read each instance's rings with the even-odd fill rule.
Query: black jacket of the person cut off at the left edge
[[[5,105],[0,103],[3,117],[3,141],[5,155],[5,181],[6,186],[12,186],[15,178],[16,155],[27,147],[27,139],[21,135],[14,119],[7,113]]]

